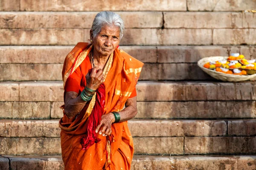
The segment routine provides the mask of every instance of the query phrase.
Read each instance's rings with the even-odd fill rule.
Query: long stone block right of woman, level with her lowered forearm
[[[256,118],[254,101],[137,102],[136,119]]]

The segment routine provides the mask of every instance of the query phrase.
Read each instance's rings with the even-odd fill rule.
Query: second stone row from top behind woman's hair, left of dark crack
[[[0,12],[2,18],[0,24],[1,28],[91,28],[98,12]],[[117,11],[116,13],[121,16],[125,28],[163,26],[162,12]],[[239,14],[241,13],[237,13]]]

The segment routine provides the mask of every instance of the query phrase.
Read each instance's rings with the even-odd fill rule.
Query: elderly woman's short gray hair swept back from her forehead
[[[93,38],[95,38],[96,35],[99,34],[102,27],[105,25],[119,27],[119,37],[120,40],[122,39],[123,31],[125,30],[125,23],[121,19],[119,14],[110,11],[102,11],[95,16],[91,28],[93,30]]]

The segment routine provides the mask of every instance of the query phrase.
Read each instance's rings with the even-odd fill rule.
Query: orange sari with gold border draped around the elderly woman
[[[92,45],[79,42],[67,55],[62,71],[65,92],[76,91],[80,95],[86,86],[85,75],[91,68],[87,55],[91,49]],[[142,62],[118,48],[111,54],[103,71],[105,75],[103,114],[121,111],[127,99],[136,96],[135,86],[142,67]],[[73,82],[73,87],[68,87],[69,82]],[[111,136],[96,134],[100,142],[82,150],[80,142],[83,137],[88,136],[86,131],[88,119],[93,119],[92,112],[95,111],[94,107],[99,96],[94,95],[75,118],[68,119],[64,115],[59,122],[65,170],[102,170],[103,167],[106,170],[130,170],[134,146],[127,121],[112,124]]]

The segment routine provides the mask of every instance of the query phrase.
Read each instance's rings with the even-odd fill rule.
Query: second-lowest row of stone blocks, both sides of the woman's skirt
[[[255,136],[134,137],[135,155],[256,154]],[[0,155],[61,155],[58,137],[0,137]]]

